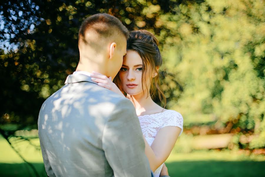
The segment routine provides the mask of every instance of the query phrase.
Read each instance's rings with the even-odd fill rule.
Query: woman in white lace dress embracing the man
[[[91,76],[98,85],[125,95],[132,101],[145,137],[145,154],[155,177],[160,175],[163,163],[183,131],[181,114],[167,110],[152,100],[157,91],[160,101],[164,100],[165,103],[158,83],[161,65],[158,40],[150,32],[138,30],[130,32],[127,55],[114,79],[115,84],[111,78],[100,73]]]

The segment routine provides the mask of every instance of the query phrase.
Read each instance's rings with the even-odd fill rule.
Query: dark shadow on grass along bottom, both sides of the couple
[[[43,163],[32,163],[39,176],[47,176]],[[265,176],[265,161],[178,161],[166,163],[170,177],[177,176],[222,176],[236,177]],[[2,176],[35,177],[33,171],[26,163],[0,163]]]

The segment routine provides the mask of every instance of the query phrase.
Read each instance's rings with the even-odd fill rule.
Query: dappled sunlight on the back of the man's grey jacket
[[[91,161],[91,154],[83,152],[96,148],[100,156],[105,157],[104,151],[100,150],[103,135],[99,132],[103,132],[106,117],[117,109],[113,99],[119,98],[95,83],[71,82],[75,82],[73,76],[69,76],[66,85],[46,99],[38,122],[41,143],[49,147],[43,150],[46,158],[52,166],[58,166],[62,174],[69,173],[67,167],[73,162],[83,162],[84,165],[75,165],[80,171],[97,168],[97,163],[101,163],[99,154]],[[126,147],[127,144],[120,142],[120,146]]]

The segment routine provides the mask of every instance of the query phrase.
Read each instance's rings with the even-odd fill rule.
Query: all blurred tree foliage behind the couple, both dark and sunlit
[[[184,122],[191,124],[231,122],[233,129],[260,134],[252,148],[264,147],[263,1],[48,0],[32,4],[21,0],[1,6],[5,17],[1,37],[13,34],[8,40],[15,46],[0,50],[1,124],[36,128],[42,103],[77,66],[82,20],[105,12],[118,17],[129,30],[145,28],[158,37],[163,56],[161,88],[168,109],[180,112]],[[19,16],[20,11],[25,15]],[[25,20],[32,23],[25,26]]]

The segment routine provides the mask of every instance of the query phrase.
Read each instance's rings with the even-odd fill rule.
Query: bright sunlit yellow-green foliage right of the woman
[[[167,93],[177,81],[183,92],[167,94],[168,107],[184,121],[233,122],[254,130],[263,119],[265,23],[262,1],[205,1],[175,6],[156,24],[164,58]]]

